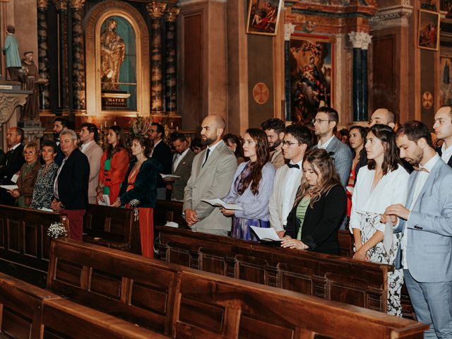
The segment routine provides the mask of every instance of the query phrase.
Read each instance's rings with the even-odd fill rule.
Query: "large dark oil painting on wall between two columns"
[[[292,35],[290,40],[291,120],[309,123],[319,107],[331,106],[333,41],[326,37]]]

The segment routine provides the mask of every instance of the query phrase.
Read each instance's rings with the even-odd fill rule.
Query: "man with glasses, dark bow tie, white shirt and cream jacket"
[[[285,232],[287,215],[292,210],[297,190],[302,181],[304,153],[312,145],[312,133],[304,125],[290,125],[285,129],[283,155],[290,162],[278,168],[270,196],[270,225],[282,237]]]

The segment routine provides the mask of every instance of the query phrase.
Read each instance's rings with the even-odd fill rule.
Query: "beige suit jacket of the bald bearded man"
[[[209,155],[202,166],[206,150],[198,153],[191,166],[191,177],[184,191],[184,208],[195,210],[199,221],[191,229],[198,232],[224,234],[231,230],[231,218],[226,218],[218,207],[201,199],[224,198],[230,190],[237,159],[223,141]]]

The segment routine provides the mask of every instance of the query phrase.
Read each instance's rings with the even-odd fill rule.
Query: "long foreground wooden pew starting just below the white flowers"
[[[52,242],[50,266],[52,290],[172,338],[422,338],[427,328],[71,239]],[[114,279],[121,285],[107,290]]]

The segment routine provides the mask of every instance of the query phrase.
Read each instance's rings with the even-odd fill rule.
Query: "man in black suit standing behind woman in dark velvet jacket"
[[[165,129],[161,124],[157,122],[150,125],[150,130],[148,132],[150,140],[154,143],[154,148],[150,153],[150,157],[162,165],[163,174],[171,174],[172,166],[172,154],[169,145],[162,140],[165,136]],[[163,181],[162,177],[157,178],[157,199],[166,198],[166,183]]]

